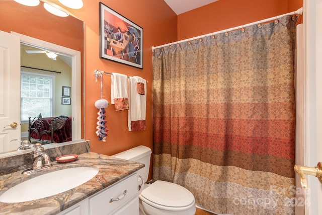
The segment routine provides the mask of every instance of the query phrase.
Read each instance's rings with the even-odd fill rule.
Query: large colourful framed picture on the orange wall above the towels
[[[100,2],[100,58],[143,68],[143,29]]]

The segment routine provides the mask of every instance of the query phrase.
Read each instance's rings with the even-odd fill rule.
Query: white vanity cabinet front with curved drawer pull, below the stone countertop
[[[119,182],[99,191],[81,202],[58,213],[59,215],[138,215],[137,174],[134,173]]]

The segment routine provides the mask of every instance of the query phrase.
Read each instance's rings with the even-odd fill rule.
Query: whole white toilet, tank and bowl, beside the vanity
[[[138,146],[113,155],[113,157],[143,163],[145,167],[138,170],[137,173],[144,181],[147,181],[151,158],[150,148]],[[194,215],[196,212],[195,197],[188,189],[178,184],[157,180],[145,184],[139,192],[140,214]]]

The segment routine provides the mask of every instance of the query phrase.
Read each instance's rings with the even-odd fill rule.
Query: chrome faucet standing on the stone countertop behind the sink
[[[32,168],[24,170],[22,174],[31,174],[52,166],[50,157],[44,152],[44,148],[39,142],[35,144],[35,148],[32,152],[34,157]]]

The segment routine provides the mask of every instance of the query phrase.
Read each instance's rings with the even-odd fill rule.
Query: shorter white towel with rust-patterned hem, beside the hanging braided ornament
[[[126,75],[112,73],[111,76],[111,104],[115,104],[115,110],[128,110],[128,79]]]

